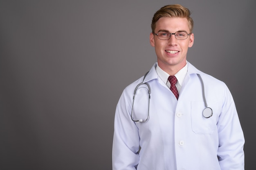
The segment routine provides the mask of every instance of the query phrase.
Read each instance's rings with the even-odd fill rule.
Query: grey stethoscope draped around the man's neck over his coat
[[[133,101],[132,101],[132,113],[131,113],[131,119],[133,122],[146,122],[149,118],[149,104],[150,104],[150,94],[151,94],[151,88],[150,88],[150,85],[148,83],[144,83],[144,79],[146,78],[148,72],[146,72],[146,74],[144,75],[144,78],[142,80],[141,83],[139,83],[135,89],[134,89],[134,95],[133,95]],[[205,108],[203,109],[202,111],[202,115],[204,116],[204,118],[210,118],[212,115],[213,115],[213,111],[211,109],[211,107],[208,107],[207,106],[207,102],[206,102],[206,99],[205,99],[205,94],[204,94],[204,82],[202,80],[202,77],[200,76],[200,74],[197,74],[200,81],[201,81],[201,84],[202,84],[202,95],[203,95],[203,99],[204,99],[204,105],[205,105]],[[134,120],[133,119],[133,106],[134,106],[134,101],[135,101],[135,96],[137,94],[137,89],[141,86],[141,85],[146,85],[148,87],[148,116],[146,119],[139,119],[139,120]]]

